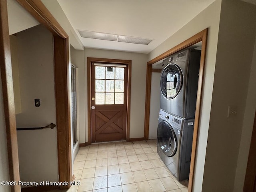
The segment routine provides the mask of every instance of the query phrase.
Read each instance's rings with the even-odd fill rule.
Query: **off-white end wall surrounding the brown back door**
[[[140,53],[98,50],[85,48],[85,66],[87,57],[111,58],[132,60],[132,84],[131,84],[131,112],[130,112],[130,138],[144,137],[144,114],[145,114],[145,94],[146,94],[146,62],[147,55]],[[87,76],[87,68],[85,68]],[[87,78],[85,78],[85,101],[87,101]],[[87,109],[87,102],[85,103]],[[87,110],[85,111],[86,121],[86,141],[88,141],[88,119]]]

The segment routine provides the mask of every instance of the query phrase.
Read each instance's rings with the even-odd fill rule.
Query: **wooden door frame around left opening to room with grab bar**
[[[17,0],[38,22],[43,24],[54,36],[54,84],[56,100],[57,147],[59,182],[72,180],[71,129],[70,129],[70,63],[68,34],[55,20],[40,0]],[[16,132],[10,38],[6,0],[0,0],[0,68],[4,98],[4,116],[10,181],[19,181],[18,142]],[[43,186],[36,190],[50,189]],[[20,186],[11,186],[12,192],[20,192]]]

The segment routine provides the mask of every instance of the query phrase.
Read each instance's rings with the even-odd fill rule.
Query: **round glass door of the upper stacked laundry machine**
[[[164,68],[161,75],[161,92],[167,99],[172,99],[178,95],[182,87],[182,72],[176,64],[170,64]]]

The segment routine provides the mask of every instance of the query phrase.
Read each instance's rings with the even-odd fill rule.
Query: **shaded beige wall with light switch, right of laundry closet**
[[[248,84],[255,34],[256,6],[222,0],[203,191],[233,192],[237,168],[237,177],[246,169],[241,163],[246,164],[248,149],[240,154],[239,162],[238,154],[239,148],[244,149],[242,130],[251,130],[254,120],[255,90],[248,90]],[[245,113],[246,105],[252,106]],[[228,106],[237,106],[235,116],[227,118]],[[240,179],[237,191],[242,191],[244,180]]]

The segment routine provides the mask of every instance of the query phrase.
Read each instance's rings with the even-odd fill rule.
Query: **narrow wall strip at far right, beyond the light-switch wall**
[[[248,154],[250,149],[250,142],[252,137],[252,127],[256,109],[256,41],[254,44],[254,54],[252,59],[252,66],[250,69],[250,79],[248,84],[248,93],[246,99],[246,106],[244,110],[244,120],[242,135],[240,141],[240,148],[238,154],[238,161],[236,167],[236,178],[234,182],[234,192],[243,190],[244,178],[246,174],[246,167],[248,161]]]

